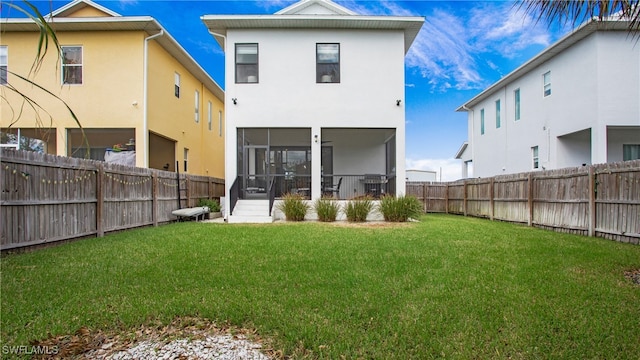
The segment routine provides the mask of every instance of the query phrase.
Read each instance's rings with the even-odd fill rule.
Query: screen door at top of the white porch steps
[[[267,199],[269,187],[269,151],[267,146],[244,146],[245,199]]]

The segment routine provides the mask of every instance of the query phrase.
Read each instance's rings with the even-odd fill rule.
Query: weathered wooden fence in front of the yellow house
[[[175,220],[224,180],[1,149],[0,250]],[[180,202],[179,202],[180,200]]]

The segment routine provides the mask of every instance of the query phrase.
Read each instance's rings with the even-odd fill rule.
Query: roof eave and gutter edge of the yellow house
[[[109,25],[96,28],[91,25]],[[161,31],[164,35],[155,39],[169,54],[176,58],[193,75],[224,103],[224,90],[189,54],[180,43],[153,17],[150,16],[118,16],[118,17],[78,17],[53,18],[49,25],[54,31],[144,31],[155,35]],[[121,26],[119,26],[121,25]],[[3,32],[39,31],[30,18],[6,18],[0,20]],[[181,60],[182,59],[182,60]]]

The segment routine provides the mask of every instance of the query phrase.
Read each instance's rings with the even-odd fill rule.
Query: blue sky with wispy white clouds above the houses
[[[95,0],[125,16],[152,16],[224,88],[224,54],[200,21],[212,14],[272,14],[296,0]],[[363,15],[423,16],[405,57],[407,169],[456,180],[455,153],[467,140],[466,113],[455,109],[570,28],[536,23],[511,1],[335,1]],[[43,13],[67,2],[32,1]],[[2,17],[19,17],[7,14]],[[442,174],[442,175],[441,175]]]

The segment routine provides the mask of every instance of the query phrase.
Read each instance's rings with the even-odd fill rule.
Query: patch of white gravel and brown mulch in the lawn
[[[281,358],[265,343],[253,330],[182,317],[169,325],[152,323],[121,331],[82,327],[73,335],[51,336],[32,345],[49,349],[36,356],[40,359]]]

